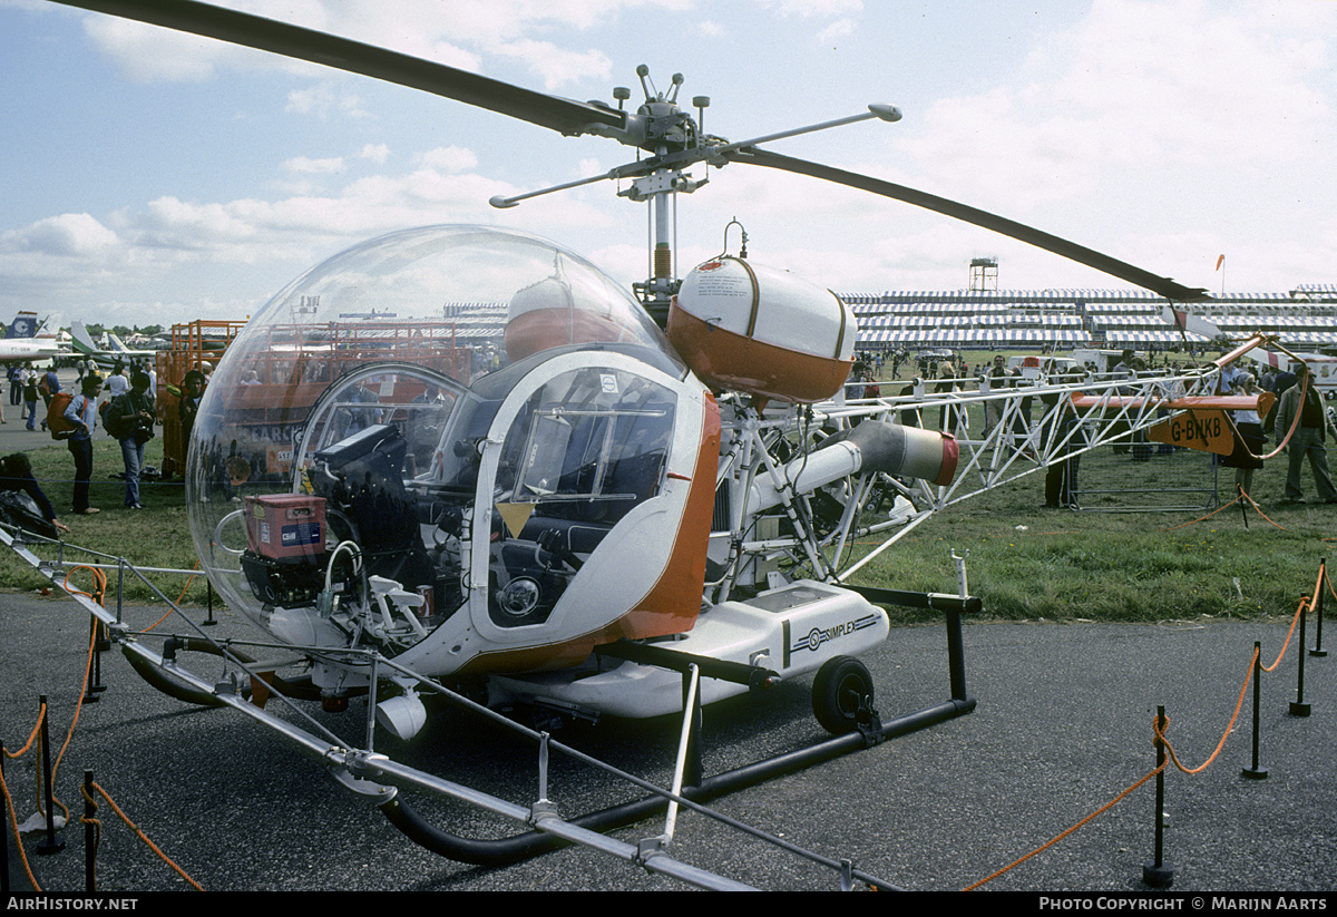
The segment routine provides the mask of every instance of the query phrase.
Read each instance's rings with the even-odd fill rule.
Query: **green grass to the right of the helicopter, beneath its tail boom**
[[[1155,465],[1155,458],[1148,465]],[[1110,449],[1083,460],[1083,484]],[[955,591],[951,552],[969,552],[969,590],[985,614],[1013,620],[1151,622],[1288,615],[1313,590],[1333,544],[1337,507],[1278,505],[1285,464],[1254,477],[1253,507],[1177,512],[1046,509],[1043,473],[943,511],[860,571],[890,588]],[[1114,479],[1111,472],[1104,480]],[[1221,473],[1222,503],[1234,476]],[[1150,500],[1152,493],[1139,495]],[[1167,493],[1166,501],[1182,503]],[[1096,504],[1099,505],[1099,503]]]

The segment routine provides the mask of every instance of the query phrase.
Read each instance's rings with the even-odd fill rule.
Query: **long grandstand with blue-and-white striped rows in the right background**
[[[1169,349],[1185,341],[1161,318],[1169,299],[1138,290],[908,290],[841,294],[858,317],[861,350],[971,349]],[[1183,305],[1223,334],[1277,334],[1288,348],[1337,346],[1337,285],[1289,293],[1230,294]]]

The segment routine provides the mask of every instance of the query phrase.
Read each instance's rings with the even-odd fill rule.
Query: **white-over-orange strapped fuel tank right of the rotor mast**
[[[668,341],[702,381],[777,401],[834,396],[857,333],[830,290],[731,255],[694,267],[668,310]]]

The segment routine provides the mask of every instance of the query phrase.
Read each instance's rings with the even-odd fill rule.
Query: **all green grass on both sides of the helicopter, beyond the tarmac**
[[[53,444],[29,453],[33,472],[72,528],[68,540],[110,557],[126,556],[142,565],[191,569],[197,557],[190,539],[180,481],[142,485],[143,511],[123,509],[124,484],[115,442],[100,440],[94,454],[92,504],[96,516],[70,512],[74,471],[64,446]],[[1104,448],[1083,458],[1082,485],[1091,488],[1083,507],[1110,508],[1135,495],[1139,504],[1205,504],[1210,465],[1201,453],[1185,453],[1190,465],[1169,471],[1159,457],[1134,465],[1128,456]],[[162,463],[160,440],[148,444],[146,463]],[[1044,509],[1044,475],[1038,472],[971,500],[952,505],[920,525],[902,541],[861,569],[853,581],[902,590],[955,592],[951,552],[969,552],[971,592],[984,600],[985,615],[1005,619],[1162,620],[1201,615],[1288,615],[1300,595],[1313,590],[1321,559],[1329,556],[1337,535],[1337,507],[1280,505],[1285,458],[1266,464],[1254,479],[1254,499],[1270,521],[1254,508],[1239,507],[1209,516],[1207,509],[1090,512]],[[1185,481],[1194,492],[1177,493]],[[1313,496],[1312,479],[1305,485]],[[1219,493],[1233,499],[1234,479],[1221,469]],[[1114,496],[1096,491],[1112,488]],[[861,544],[860,552],[876,544]],[[5,552],[0,557],[0,588],[33,590],[45,580]],[[185,577],[167,577],[163,591],[172,598],[203,603],[203,577],[186,588]],[[147,600],[151,594],[131,584],[127,596]]]

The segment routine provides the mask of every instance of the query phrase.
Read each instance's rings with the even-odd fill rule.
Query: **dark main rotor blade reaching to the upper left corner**
[[[612,108],[533,92],[397,51],[195,0],[53,1],[397,83],[567,135],[588,134],[592,126],[622,128],[626,122],[626,115]]]

